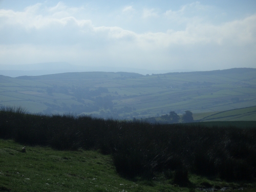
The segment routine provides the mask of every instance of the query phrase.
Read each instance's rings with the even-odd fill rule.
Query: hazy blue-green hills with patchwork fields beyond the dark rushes
[[[221,112],[256,105],[256,69],[152,75],[1,75],[0,105],[22,106],[31,113],[94,114],[117,119],[160,116],[170,111]]]

